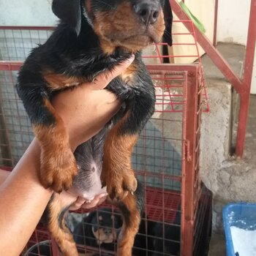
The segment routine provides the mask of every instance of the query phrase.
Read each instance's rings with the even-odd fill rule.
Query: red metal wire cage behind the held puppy
[[[193,27],[191,22],[190,25]],[[29,50],[44,42],[51,29],[0,29],[0,166],[10,170],[33,138],[31,124],[15,91],[18,69]],[[189,45],[195,47],[195,56],[200,59],[196,39],[195,44]],[[162,44],[154,45],[151,53],[143,56],[154,81],[157,102],[132,154],[132,165],[145,187],[144,216],[134,254],[202,256],[211,233],[211,193],[198,175],[201,113],[208,110],[203,68],[200,61],[162,64],[163,58],[182,56],[162,56],[161,52]],[[87,222],[91,212],[96,214],[98,223]],[[106,246],[99,239],[90,242],[93,239],[86,233],[87,227],[90,230],[92,225],[100,225],[101,214],[120,219],[116,209],[107,203],[90,213],[80,210],[68,215],[81,255],[115,255],[114,238]],[[114,224],[104,228],[118,230]],[[59,251],[39,223],[22,255],[57,256]]]

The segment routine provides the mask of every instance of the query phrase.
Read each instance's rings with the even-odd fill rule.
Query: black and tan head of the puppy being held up
[[[117,47],[136,52],[162,40],[164,10],[170,10],[169,0],[166,1],[53,0],[53,12],[77,34],[85,16],[107,53]]]

